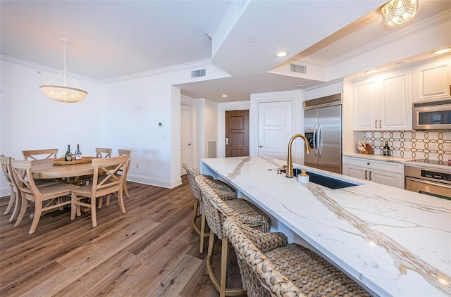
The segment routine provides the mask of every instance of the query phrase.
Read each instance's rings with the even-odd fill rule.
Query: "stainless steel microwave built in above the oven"
[[[451,99],[413,103],[412,129],[451,129]]]

